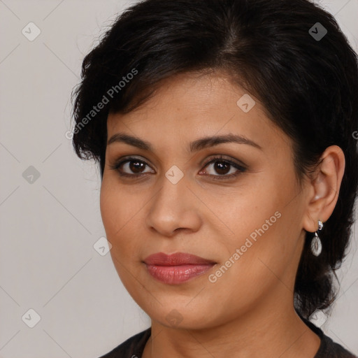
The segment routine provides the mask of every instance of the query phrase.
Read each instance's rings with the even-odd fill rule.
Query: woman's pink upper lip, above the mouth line
[[[158,266],[180,266],[180,265],[207,265],[216,264],[212,260],[203,259],[196,255],[188,254],[186,252],[176,252],[171,255],[166,255],[164,252],[157,252],[144,259],[145,264]]]

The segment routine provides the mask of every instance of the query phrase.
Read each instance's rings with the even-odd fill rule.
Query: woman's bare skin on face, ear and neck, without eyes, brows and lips
[[[294,278],[306,231],[316,231],[317,220],[326,222],[334,210],[344,155],[337,146],[327,148],[320,167],[300,184],[291,140],[255,96],[250,95],[256,104],[248,113],[238,107],[245,93],[224,73],[186,73],[164,80],[136,110],[108,115],[108,139],[121,132],[152,145],[152,150],[108,145],[101,185],[101,215],[113,263],[152,320],[143,358],[313,358],[319,348],[320,338],[294,311]],[[224,134],[244,136],[260,148],[221,143],[187,150],[196,139]],[[245,164],[245,171],[206,165],[215,155],[224,155],[216,163],[229,159]],[[111,169],[125,156],[147,166],[127,163],[122,172],[144,176],[125,178],[120,169]],[[184,174],[176,184],[165,176],[173,165]],[[238,176],[215,180],[233,173]],[[210,282],[208,276],[276,212],[280,218]],[[189,252],[217,264],[185,283],[166,285],[143,264],[156,252]],[[177,324],[166,320],[173,310],[180,317]]]

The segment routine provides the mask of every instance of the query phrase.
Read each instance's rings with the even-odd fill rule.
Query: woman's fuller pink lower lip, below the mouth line
[[[169,285],[178,285],[196,276],[206,273],[214,264],[157,266],[147,265],[148,272],[157,280]]]

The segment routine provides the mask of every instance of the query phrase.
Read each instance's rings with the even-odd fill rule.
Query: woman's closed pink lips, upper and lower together
[[[169,285],[178,285],[210,270],[216,262],[185,252],[166,255],[164,252],[144,259],[148,273],[157,280]]]

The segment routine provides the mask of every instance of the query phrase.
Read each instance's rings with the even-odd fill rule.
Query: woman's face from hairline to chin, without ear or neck
[[[137,110],[108,116],[101,215],[110,253],[129,294],[167,327],[215,327],[292,306],[305,189],[291,141],[244,94],[219,74],[185,74]],[[228,135],[238,138],[198,142]],[[215,264],[148,270],[157,252]],[[203,273],[185,280],[195,268]]]

